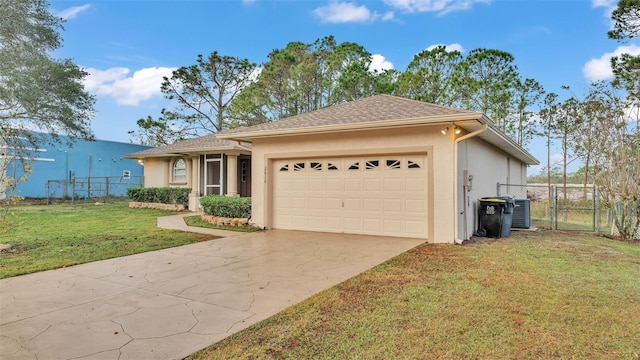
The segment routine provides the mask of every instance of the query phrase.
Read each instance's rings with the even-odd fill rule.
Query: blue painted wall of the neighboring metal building
[[[110,181],[119,181],[122,186],[110,187],[110,195],[126,195],[126,184],[138,183],[143,176],[143,167],[134,159],[123,159],[122,156],[133,152],[148,149],[149,146],[142,146],[130,143],[115,141],[96,140],[76,140],[70,147],[66,144],[64,137],[61,144],[51,145],[41,143],[35,153],[35,160],[31,163],[32,172],[28,174],[27,182],[18,184],[15,195],[31,198],[47,197],[46,184],[48,180],[65,180],[69,174],[74,174],[76,179],[85,180],[91,174],[92,178],[98,181],[100,177],[110,177]],[[123,179],[123,174],[128,171],[130,179]],[[19,176],[19,175],[18,175]],[[70,178],[69,178],[70,179]],[[62,197],[62,185],[52,186],[51,193],[56,197]],[[86,186],[86,184],[84,185]],[[94,187],[98,189],[98,185]],[[67,195],[71,196],[71,185],[67,190]],[[78,185],[77,195],[82,197],[82,185]],[[94,194],[95,195],[95,194]]]

